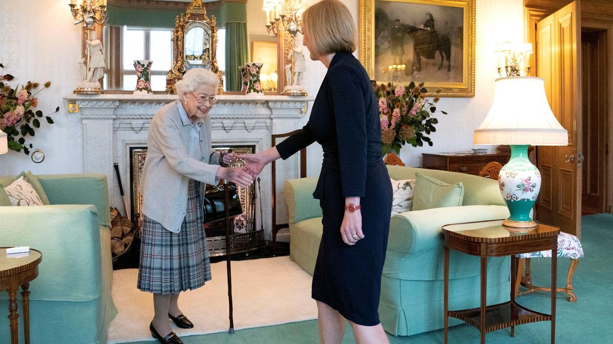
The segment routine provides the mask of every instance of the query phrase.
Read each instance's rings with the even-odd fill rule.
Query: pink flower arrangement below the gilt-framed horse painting
[[[421,147],[425,142],[432,146],[432,140],[427,135],[436,131],[434,125],[438,119],[432,115],[436,113],[438,97],[426,99],[425,93],[428,91],[424,83],[416,85],[411,82],[408,86],[399,84],[396,88],[390,83],[387,86],[373,84],[373,87],[379,98],[383,155],[391,151],[400,154],[400,148],[405,143]],[[445,111],[440,112],[447,114]]]

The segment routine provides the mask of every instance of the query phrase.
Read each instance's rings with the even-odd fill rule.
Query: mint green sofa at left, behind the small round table
[[[51,205],[0,206],[0,246],[30,246],[42,253],[39,275],[30,282],[31,342],[106,343],[107,327],[117,315],[107,179],[104,174],[37,178]],[[13,179],[0,177],[0,184]],[[23,341],[21,301],[18,307]],[[8,315],[6,292],[0,293],[0,310]],[[0,338],[9,340],[8,335],[9,320],[0,316]]]

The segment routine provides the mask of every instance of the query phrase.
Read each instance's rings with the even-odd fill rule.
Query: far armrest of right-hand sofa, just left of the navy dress
[[[313,198],[317,178],[290,179],[283,185],[283,198],[287,203],[289,223],[313,217],[322,217],[319,200]]]

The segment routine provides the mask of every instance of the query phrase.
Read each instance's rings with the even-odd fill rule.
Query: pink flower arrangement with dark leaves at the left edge
[[[39,83],[28,81],[21,88],[19,85],[14,89],[10,88],[4,81],[11,81],[14,77],[4,74],[4,65],[0,64],[0,69],[0,130],[7,134],[9,149],[17,152],[23,149],[23,152],[29,155],[32,144],[26,143],[26,136],[34,136],[35,129],[40,127],[39,118],[45,117],[48,124],[53,124],[51,114],[43,116],[42,111],[34,111],[38,106],[36,95],[49,88],[51,81],[44,83],[42,88],[32,94],[32,91],[40,87]],[[55,108],[55,113],[58,112],[59,107]]]

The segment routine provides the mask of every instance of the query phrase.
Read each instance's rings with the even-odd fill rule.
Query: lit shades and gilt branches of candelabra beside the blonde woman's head
[[[280,31],[287,31],[292,37],[302,34],[300,10],[303,0],[264,0],[262,10],[266,12],[268,36],[277,37]]]

